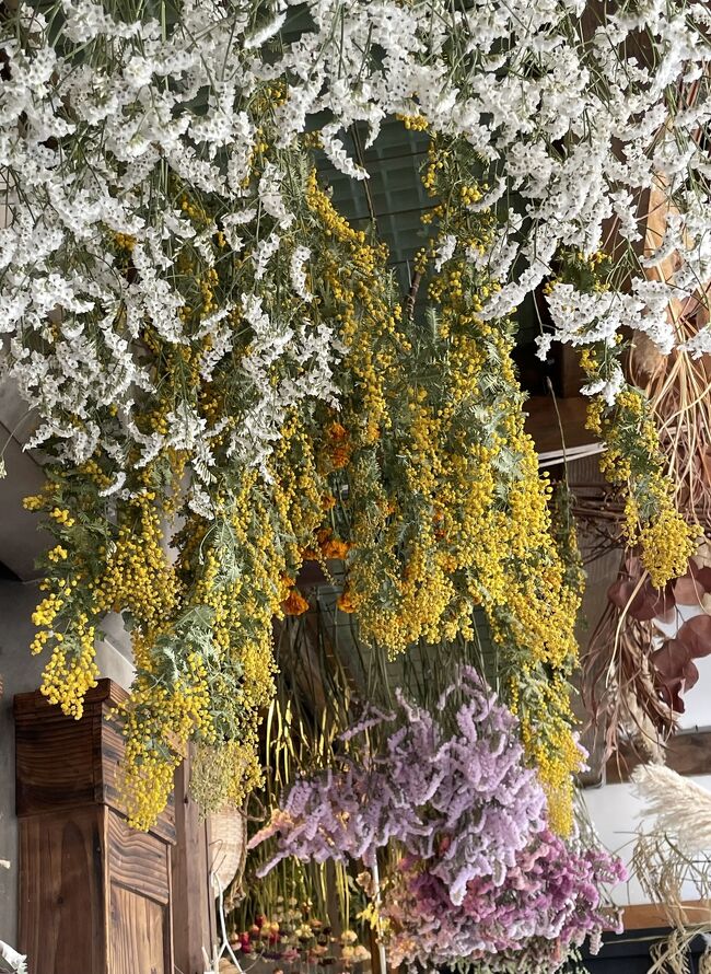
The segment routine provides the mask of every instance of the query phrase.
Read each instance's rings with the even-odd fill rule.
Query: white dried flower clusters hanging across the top
[[[241,286],[240,327],[252,329],[252,345],[240,364],[244,409],[233,451],[263,464],[289,404],[335,402],[336,329],[266,311],[284,259],[296,302],[312,297],[307,240],[289,205],[290,153],[324,118],[325,152],[353,178],[366,174],[342,132],[363,124],[370,144],[396,113],[422,116],[486,161],[494,186],[487,201],[508,201],[487,253],[470,254],[502,285],[486,316],[517,305],[561,248],[591,255],[614,234],[628,254],[631,290],[591,298],[559,286],[553,337],[611,340],[631,326],[667,351],[671,293],[690,298],[709,280],[711,16],[703,3],[473,0],[454,10],[448,0],[229,8],[183,0],[173,24],[133,22],[135,5],[120,0],[110,11],[91,0],[57,7],[49,23],[21,2],[0,34],[0,170],[10,211],[0,230],[0,378],[14,378],[37,410],[33,443],[61,441],[60,459],[81,463],[101,447],[120,471],[132,447],[145,462],[162,443],[193,450],[209,438],[176,404],[172,430],[147,442],[132,410],[155,382],[143,355],[147,324],[175,346],[209,339],[203,376],[235,355],[229,314],[237,302],[208,316],[199,335],[180,315],[180,253],[189,246],[209,260],[218,230],[252,268]],[[278,151],[249,189],[261,137],[254,105],[283,80]],[[198,232],[176,204],[174,178],[219,199],[219,223]],[[640,259],[640,202],[660,187],[673,216],[656,252]],[[116,235],[133,242],[130,274],[107,246]],[[672,252],[673,278],[649,285],[642,265]],[[439,259],[447,254],[445,241]],[[709,347],[701,335],[691,350]],[[267,373],[277,359],[283,378],[275,390]],[[209,451],[195,456],[196,472],[208,471]]]

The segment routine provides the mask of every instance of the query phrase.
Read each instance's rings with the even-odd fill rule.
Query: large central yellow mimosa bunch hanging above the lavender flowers
[[[431,195],[455,164],[446,151],[430,152]],[[470,176],[451,182],[459,192],[428,214],[441,229],[418,257],[421,274],[445,234],[455,234],[459,254],[490,241],[492,214],[470,210],[486,187]],[[413,323],[392,310],[382,245],[370,246],[313,176],[308,201],[326,236],[325,300],[341,323],[354,390],[325,431],[320,461],[324,473],[348,484],[352,549],[339,607],[356,612],[362,637],[391,652],[420,639],[470,638],[473,611],[483,607],[551,822],[569,832],[580,752],[568,676],[580,592],[566,581],[550,486],[524,432],[509,325],[478,317],[498,283],[457,254],[430,278],[438,374],[432,384],[418,381],[422,335],[415,338]]]

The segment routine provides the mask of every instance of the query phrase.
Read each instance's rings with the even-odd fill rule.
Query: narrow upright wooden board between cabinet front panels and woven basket
[[[210,886],[209,827],[188,792],[189,764],[175,775],[176,844],[172,854],[173,946],[182,974],[203,974],[202,948],[217,943],[214,900]]]

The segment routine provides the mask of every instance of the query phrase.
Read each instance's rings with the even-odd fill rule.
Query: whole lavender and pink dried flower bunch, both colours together
[[[384,901],[395,964],[558,970],[570,949],[613,926],[599,889],[623,878],[620,861],[548,831],[516,719],[471,668],[458,671],[436,717],[401,694],[397,701],[403,723],[380,754],[343,757],[292,787],[249,844],[277,838],[261,874],[287,856],[373,866],[395,840],[403,858]],[[345,738],[397,716],[369,711]]]

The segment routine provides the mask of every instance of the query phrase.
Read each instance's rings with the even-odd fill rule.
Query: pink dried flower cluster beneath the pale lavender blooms
[[[617,857],[544,830],[515,858],[502,882],[469,880],[457,905],[434,861],[405,856],[383,905],[394,966],[431,970],[466,959],[487,974],[553,972],[586,937],[596,952],[604,930],[620,932],[602,895],[604,884],[626,878]]]

